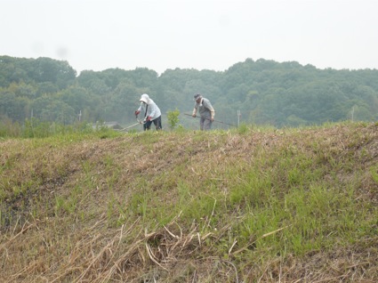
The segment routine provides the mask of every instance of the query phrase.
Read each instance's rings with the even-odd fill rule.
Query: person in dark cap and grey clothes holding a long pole
[[[213,109],[212,103],[202,97],[201,94],[194,94],[194,109],[192,117],[197,117],[197,112],[199,113],[199,128],[201,131],[210,130],[212,128],[215,110]]]

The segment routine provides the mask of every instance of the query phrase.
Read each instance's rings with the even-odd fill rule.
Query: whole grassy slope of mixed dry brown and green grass
[[[0,140],[2,282],[375,282],[378,124]]]

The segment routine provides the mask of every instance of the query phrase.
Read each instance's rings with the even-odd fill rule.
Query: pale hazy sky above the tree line
[[[0,0],[0,55],[84,69],[229,69],[251,58],[378,69],[377,0]]]

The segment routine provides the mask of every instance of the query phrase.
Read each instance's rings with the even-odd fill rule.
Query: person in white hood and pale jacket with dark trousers
[[[161,130],[162,117],[157,104],[149,98],[149,94],[147,93],[141,94],[141,99],[139,101],[141,101],[141,106],[139,109],[135,110],[135,116],[138,116],[142,111],[144,115],[143,130],[149,130],[152,123],[157,127],[157,131]]]

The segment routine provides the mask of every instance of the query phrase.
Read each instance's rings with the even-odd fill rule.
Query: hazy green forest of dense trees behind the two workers
[[[378,120],[377,69],[317,69],[296,61],[246,59],[221,72],[167,69],[158,76],[137,68],[77,75],[68,61],[0,56],[0,122],[22,124],[33,117],[64,125],[129,125],[135,123],[142,93],[157,103],[163,121],[167,112],[178,109],[180,124],[189,128],[197,128],[196,119],[184,115],[191,113],[195,93],[213,103],[215,119],[233,125],[279,128]]]

